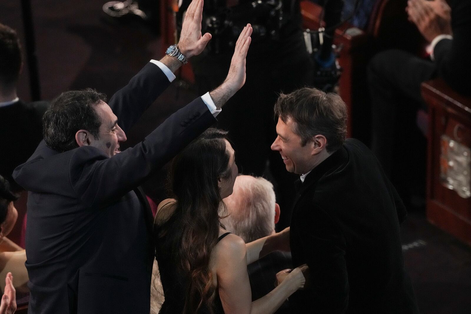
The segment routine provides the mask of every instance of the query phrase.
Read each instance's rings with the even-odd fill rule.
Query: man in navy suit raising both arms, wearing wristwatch
[[[139,185],[216,120],[245,81],[250,25],[227,79],[172,114],[138,145],[119,151],[125,131],[199,54],[203,1],[193,1],[178,50],[152,60],[105,103],[94,90],[62,93],[44,117],[44,141],[17,167],[30,191],[26,253],[30,313],[149,313],[153,219]]]

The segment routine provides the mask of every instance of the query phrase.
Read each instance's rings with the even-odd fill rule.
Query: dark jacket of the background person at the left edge
[[[11,177],[13,170],[34,153],[42,139],[42,116],[49,103],[38,101],[0,107],[0,175],[13,190],[20,188]]]

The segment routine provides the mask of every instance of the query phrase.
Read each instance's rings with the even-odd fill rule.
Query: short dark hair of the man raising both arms
[[[101,120],[95,106],[100,101],[106,102],[106,95],[95,89],[69,90],[60,94],[42,118],[46,144],[60,153],[77,148],[75,133],[80,129],[99,139]]]

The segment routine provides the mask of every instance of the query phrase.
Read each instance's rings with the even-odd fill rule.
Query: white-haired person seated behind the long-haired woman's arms
[[[228,216],[222,224],[244,240],[245,243],[275,234],[275,224],[280,218],[280,206],[275,202],[273,185],[263,177],[238,176],[234,190],[224,199]],[[258,300],[273,290],[276,273],[292,268],[291,253],[274,251],[247,265],[252,300]],[[277,314],[289,313],[285,302]]]

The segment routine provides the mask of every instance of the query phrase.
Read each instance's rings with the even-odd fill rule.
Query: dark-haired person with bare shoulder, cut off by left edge
[[[13,201],[16,199],[17,196],[11,191],[8,181],[0,176],[0,278],[12,273],[16,278],[16,290],[25,294],[29,292],[27,287],[28,273],[24,266],[26,252],[7,238],[18,217],[15,205],[13,205]],[[0,289],[5,291],[3,281],[0,281]]]

